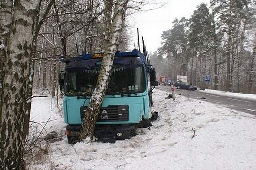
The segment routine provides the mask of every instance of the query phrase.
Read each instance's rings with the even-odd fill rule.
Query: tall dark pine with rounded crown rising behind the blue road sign
[[[188,33],[188,46],[189,50],[192,54],[191,61],[191,71],[190,71],[190,82],[195,82],[195,72],[193,70],[194,60],[198,55],[199,58],[202,58],[206,63],[210,63],[209,57],[211,56],[211,52],[216,52],[215,45],[215,32],[214,32],[214,20],[212,18],[212,14],[209,12],[206,4],[202,3],[197,6],[197,10],[194,11],[194,14],[189,19],[189,33]],[[214,59],[216,59],[216,54],[214,54]],[[216,67],[217,62],[213,62],[214,67]],[[204,65],[205,66],[205,65]],[[206,67],[205,67],[206,68]],[[217,67],[216,67],[217,68]],[[201,69],[201,68],[196,68]],[[206,72],[206,70],[204,70]],[[208,72],[208,74],[210,74]],[[217,80],[217,70],[214,71],[215,78]],[[202,78],[200,78],[200,82]],[[215,81],[217,85],[217,82]]]

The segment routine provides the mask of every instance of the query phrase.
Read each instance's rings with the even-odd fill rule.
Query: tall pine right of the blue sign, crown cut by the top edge
[[[233,64],[235,61],[236,42],[241,23],[248,17],[249,0],[212,0],[211,8],[216,20],[216,28],[224,42],[223,55],[226,57],[226,90],[232,91]]]

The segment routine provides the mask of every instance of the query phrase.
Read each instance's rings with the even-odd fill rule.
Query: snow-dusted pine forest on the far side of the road
[[[184,75],[200,88],[255,94],[255,26],[255,0],[212,0],[209,8],[202,3],[189,19],[176,18],[163,31],[151,63],[158,76]]]

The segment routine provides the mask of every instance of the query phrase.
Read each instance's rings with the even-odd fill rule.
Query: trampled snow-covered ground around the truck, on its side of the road
[[[150,130],[138,129],[137,136],[115,144],[75,145],[67,143],[66,124],[51,108],[51,99],[33,99],[31,120],[51,117],[47,133],[56,131],[62,140],[50,143],[44,161],[29,169],[255,169],[256,116],[180,95],[175,101],[166,96],[154,90],[153,109],[159,118]]]

